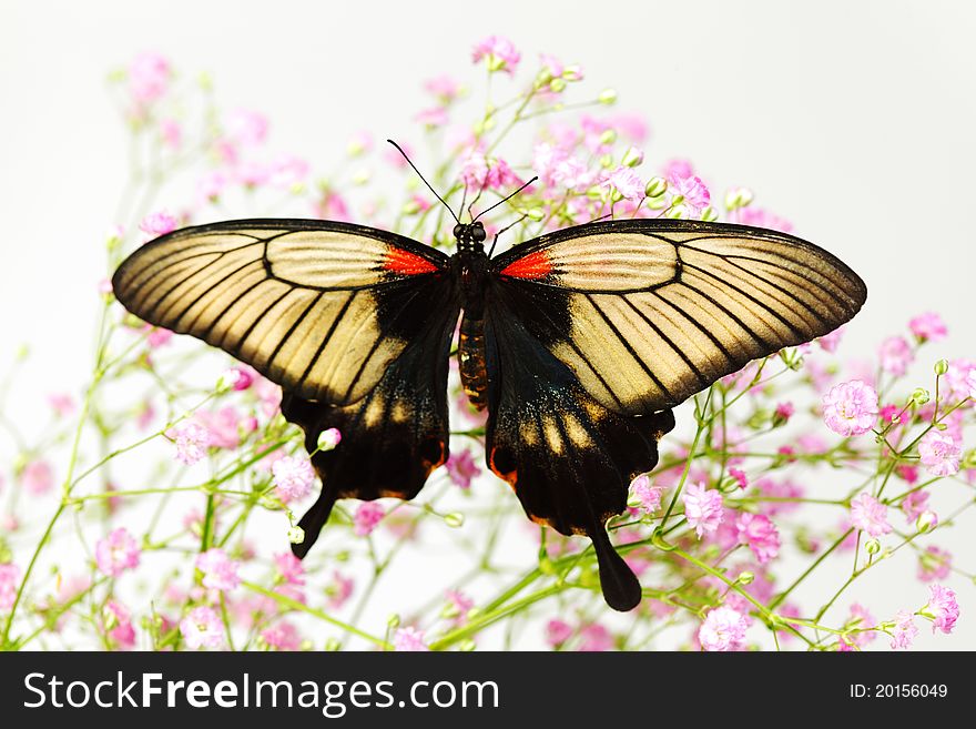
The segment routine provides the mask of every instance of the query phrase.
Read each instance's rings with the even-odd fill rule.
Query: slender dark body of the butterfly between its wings
[[[458,337],[458,369],[468,401],[484,409],[488,389],[485,366],[485,286],[488,281],[488,255],[485,253],[485,227],[479,222],[457,224],[454,229],[457,253],[451,265],[461,290],[464,317]]]

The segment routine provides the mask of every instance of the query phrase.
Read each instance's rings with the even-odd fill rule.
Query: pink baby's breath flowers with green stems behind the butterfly
[[[539,176],[487,216],[489,235],[518,221],[504,244],[600,217],[791,230],[744,188],[716,201],[689,162],[645,159],[644,121],[617,111],[612,90],[581,91],[581,67],[542,55],[526,75],[530,63],[497,37],[474,61],[486,73],[470,89],[424,83],[423,131],[416,146],[403,141],[449,204],[479,191],[484,207]],[[112,91],[131,175],[106,275],[155,236],[232,217],[348,220],[453,243],[445,207],[370,133],[314,174],[301,155],[267,149],[264,115],[225,113],[209,79],[164,58],[138,57]],[[963,444],[976,361],[934,361],[927,345],[946,335],[937,314],[881,341],[871,364],[842,365],[837,331],[679,408],[660,464],[611,523],[644,593],[617,615],[588,543],[528,523],[484,474],[484,416],[456,376],[446,467],[411,503],[340,502],[303,563],[288,539],[301,539],[295,513],[318,485],[279,388],[134,320],[108,281],[92,296],[102,307],[91,377],[77,394],[47,395],[43,437],[3,409],[26,355],[0,388],[16,454],[0,466],[7,649],[856,650],[906,648],[926,626],[950,634],[958,617],[946,584],[972,575],[939,536],[973,506],[976,459]],[[909,378],[913,363],[932,374]],[[319,446],[342,448],[342,433]],[[886,567],[897,551],[916,556],[915,575]],[[894,615],[848,600],[878,570],[911,595]],[[806,589],[814,577],[826,591]]]

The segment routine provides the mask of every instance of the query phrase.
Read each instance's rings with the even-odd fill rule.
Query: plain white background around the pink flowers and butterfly
[[[848,355],[870,355],[929,308],[950,327],[931,358],[976,355],[969,3],[0,8],[0,364],[20,342],[31,344],[31,372],[12,401],[28,432],[43,422],[45,393],[77,391],[87,375],[101,245],[125,170],[105,77],[145,49],[186,72],[210,71],[222,105],[268,113],[274,144],[327,168],[357,130],[414,132],[419,82],[444,72],[474,79],[472,43],[507,36],[527,63],[552,53],[581,63],[594,92],[617,88],[621,107],[652,124],[650,162],[691,159],[716,193],[748,184],[763,206],[858,271],[870,298],[848,327]],[[959,566],[976,566],[965,527],[942,543]],[[860,596],[878,615],[914,606],[924,589],[911,573],[901,567],[904,585],[881,575]],[[964,610],[958,635],[931,638],[923,627],[919,646],[976,646],[976,589],[950,584]]]

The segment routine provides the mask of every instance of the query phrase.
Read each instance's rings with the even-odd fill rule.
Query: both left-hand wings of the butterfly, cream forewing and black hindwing
[[[192,334],[282,385],[323,490],[304,557],[336,498],[413,498],[448,455],[447,361],[459,296],[444,254],[384,231],[303,220],[175,231],[113,279],[136,316]],[[323,431],[342,445],[318,450]]]

